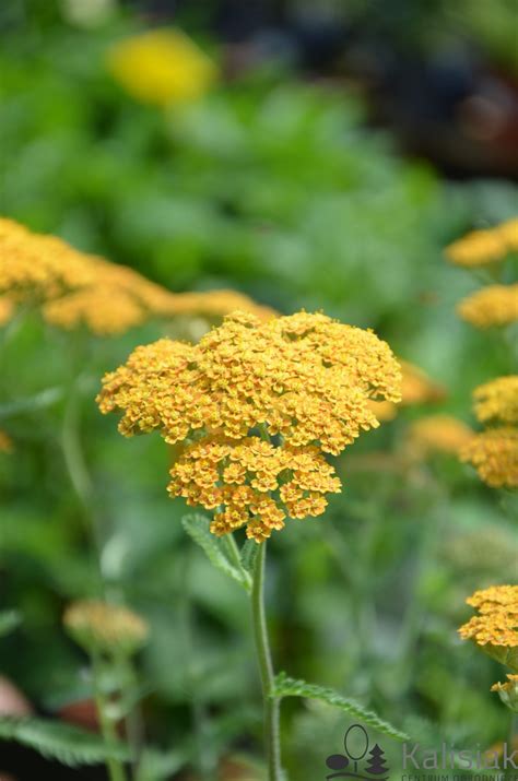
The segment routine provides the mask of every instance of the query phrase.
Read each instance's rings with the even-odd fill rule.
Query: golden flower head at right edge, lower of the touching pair
[[[475,434],[459,454],[493,488],[518,487],[518,428],[503,426]]]

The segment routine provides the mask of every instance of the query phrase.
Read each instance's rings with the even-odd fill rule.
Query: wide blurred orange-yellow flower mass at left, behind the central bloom
[[[132,269],[11,220],[0,220],[0,323],[16,303],[28,300],[42,306],[47,322],[63,329],[84,324],[97,335],[122,333],[150,317],[222,316],[237,303],[261,319],[273,315],[232,291],[170,293]]]

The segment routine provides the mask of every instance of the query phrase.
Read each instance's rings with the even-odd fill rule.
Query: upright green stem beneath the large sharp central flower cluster
[[[251,589],[251,608],[256,651],[261,673],[262,700],[264,709],[264,742],[268,760],[268,781],[282,781],[280,745],[280,699],[272,697],[273,664],[268,639],[267,617],[264,612],[264,560],[267,543],[260,545],[254,570]]]

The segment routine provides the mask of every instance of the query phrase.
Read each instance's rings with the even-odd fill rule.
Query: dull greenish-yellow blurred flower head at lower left
[[[87,651],[131,654],[149,635],[148,624],[132,611],[95,600],[73,602],[63,614],[63,625]]]

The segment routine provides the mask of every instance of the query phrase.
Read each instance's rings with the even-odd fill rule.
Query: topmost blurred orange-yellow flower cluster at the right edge
[[[518,218],[487,230],[472,230],[446,248],[446,256],[457,265],[476,267],[502,260],[518,250]]]

